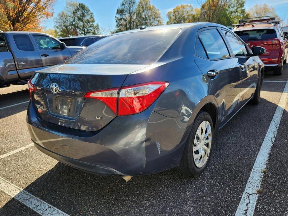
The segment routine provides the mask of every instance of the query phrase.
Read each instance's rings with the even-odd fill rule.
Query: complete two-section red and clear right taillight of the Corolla
[[[84,98],[95,98],[104,102],[115,114],[118,106],[118,115],[131,115],[151,106],[168,85],[169,82],[147,82],[120,89],[87,92]]]

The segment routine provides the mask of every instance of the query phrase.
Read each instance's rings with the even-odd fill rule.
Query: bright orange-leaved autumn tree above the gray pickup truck
[[[53,16],[54,0],[0,0],[2,31],[41,31],[41,22]]]

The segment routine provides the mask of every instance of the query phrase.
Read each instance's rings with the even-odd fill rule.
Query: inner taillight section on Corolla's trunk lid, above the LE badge
[[[117,111],[117,94],[119,88],[87,92],[85,98],[95,98],[105,103],[115,114]]]

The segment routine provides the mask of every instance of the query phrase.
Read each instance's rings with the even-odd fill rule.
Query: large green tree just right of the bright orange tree
[[[94,14],[83,3],[67,1],[66,7],[54,19],[54,28],[60,37],[68,35],[99,34],[100,27],[95,23]]]

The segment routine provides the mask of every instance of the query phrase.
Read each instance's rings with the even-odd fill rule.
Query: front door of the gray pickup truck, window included
[[[61,49],[60,42],[52,37],[33,34],[33,39],[41,56],[43,68],[59,64],[71,56],[68,48]]]

